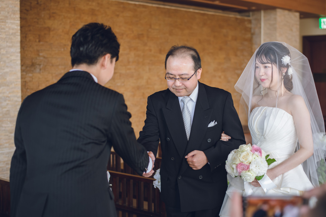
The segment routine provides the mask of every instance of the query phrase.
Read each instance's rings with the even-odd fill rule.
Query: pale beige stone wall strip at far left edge
[[[9,179],[21,104],[19,0],[0,0],[0,177]]]

